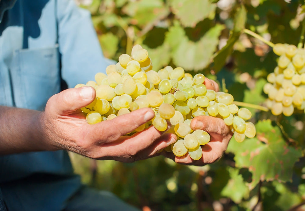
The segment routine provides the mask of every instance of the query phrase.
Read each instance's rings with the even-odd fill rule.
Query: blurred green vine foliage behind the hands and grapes
[[[118,60],[134,44],[153,69],[181,66],[219,82],[236,101],[264,106],[266,76],[278,58],[249,29],[297,45],[302,5],[292,0],[79,0],[90,10],[104,55]],[[83,83],[83,82],[80,82]],[[249,107],[248,107],[249,108]],[[304,112],[290,117],[251,107],[257,135],[231,139],[221,160],[184,166],[159,156],[123,164],[71,154],[88,185],[143,210],[305,210]]]

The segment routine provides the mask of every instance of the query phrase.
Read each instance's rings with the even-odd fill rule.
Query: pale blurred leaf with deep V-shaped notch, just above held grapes
[[[171,55],[176,66],[185,70],[198,71],[210,64],[218,45],[218,37],[224,29],[217,24],[209,29],[198,42],[188,40],[181,26],[177,24],[166,34],[165,42],[172,48]]]

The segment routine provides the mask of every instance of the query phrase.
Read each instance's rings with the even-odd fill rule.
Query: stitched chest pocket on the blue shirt
[[[44,110],[48,99],[60,92],[60,68],[58,45],[39,49],[16,51],[20,85],[17,88],[17,107]],[[14,79],[14,77],[13,77]],[[15,88],[15,87],[14,87]]]

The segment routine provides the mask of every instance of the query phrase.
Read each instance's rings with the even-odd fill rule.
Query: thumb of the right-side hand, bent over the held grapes
[[[221,118],[212,117],[212,116],[197,116],[194,117],[191,121],[192,130],[204,130],[211,133],[219,133],[224,129],[227,129],[224,121]]]

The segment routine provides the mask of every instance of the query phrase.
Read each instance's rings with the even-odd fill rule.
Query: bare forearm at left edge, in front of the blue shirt
[[[46,150],[42,112],[0,106],[0,155]]]

